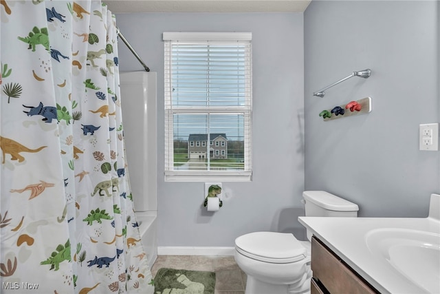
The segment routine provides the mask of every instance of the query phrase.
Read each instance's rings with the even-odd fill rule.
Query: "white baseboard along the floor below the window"
[[[234,247],[158,246],[157,255],[233,256]]]

